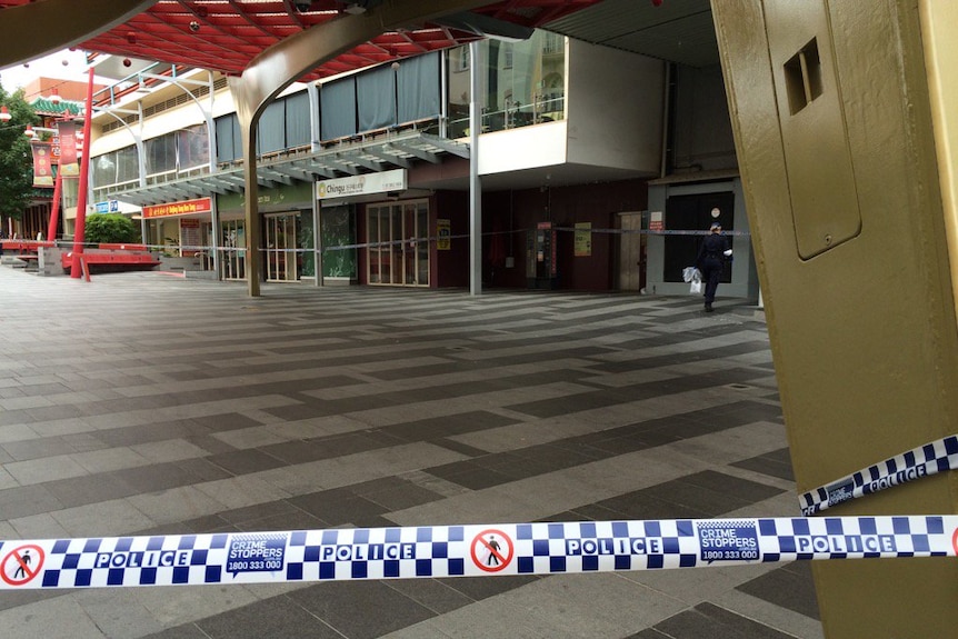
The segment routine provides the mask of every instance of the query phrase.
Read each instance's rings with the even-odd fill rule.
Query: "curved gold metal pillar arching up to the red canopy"
[[[386,0],[359,14],[300,31],[253,58],[242,76],[230,78],[243,147],[246,182],[247,281],[250,297],[260,292],[260,228],[257,203],[256,127],[267,106],[287,87],[327,60],[406,24],[488,4],[488,0]]]

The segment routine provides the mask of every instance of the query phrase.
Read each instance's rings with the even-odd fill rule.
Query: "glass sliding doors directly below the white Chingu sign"
[[[366,210],[370,284],[429,286],[429,203],[370,204]]]

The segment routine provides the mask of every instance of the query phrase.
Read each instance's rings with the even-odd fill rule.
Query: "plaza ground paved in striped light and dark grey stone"
[[[719,288],[721,293],[721,288]],[[0,267],[0,539],[798,517],[764,316]],[[818,639],[809,562],[0,590],[6,638]]]

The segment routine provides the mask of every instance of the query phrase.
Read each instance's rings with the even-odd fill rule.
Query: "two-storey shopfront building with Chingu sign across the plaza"
[[[98,96],[92,210],[139,218],[191,274],[468,287],[475,153],[485,287],[683,293],[695,233],[718,219],[736,233],[722,293],[758,297],[718,67],[547,31],[470,51],[297,83],[267,108],[260,273],[246,269],[240,131],[214,73],[143,63]]]

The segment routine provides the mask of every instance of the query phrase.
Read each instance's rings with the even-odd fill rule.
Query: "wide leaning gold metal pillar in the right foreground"
[[[958,432],[958,6],[713,0],[712,12],[804,492]],[[941,473],[827,515],[956,507],[958,473]],[[829,638],[956,633],[954,559],[812,571]]]

